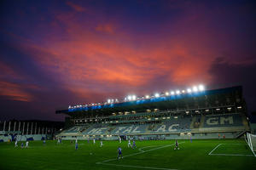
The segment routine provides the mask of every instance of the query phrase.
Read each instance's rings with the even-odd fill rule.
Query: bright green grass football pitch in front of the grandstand
[[[20,149],[14,143],[0,144],[0,169],[256,169],[256,157],[241,139],[179,140],[180,150],[173,150],[174,140],[137,141],[137,149],[123,141],[103,141],[103,147],[79,141],[30,142]],[[20,143],[19,143],[20,145]],[[121,146],[123,159],[117,160]],[[211,153],[209,155],[209,153]]]

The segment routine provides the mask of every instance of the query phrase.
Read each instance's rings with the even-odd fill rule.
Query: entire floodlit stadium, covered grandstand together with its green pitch
[[[67,116],[66,127],[52,135],[33,134],[28,129],[25,133],[2,131],[1,139],[5,142],[1,144],[1,157],[6,162],[1,165],[3,169],[47,169],[45,161],[38,158],[47,159],[47,165],[54,169],[256,166],[256,137],[251,134],[241,86],[211,90],[198,86],[143,97],[130,95],[124,100],[70,105],[55,113]],[[48,140],[45,142],[44,138]],[[11,141],[15,140],[30,140],[30,146],[14,150]],[[122,149],[121,159],[116,157],[118,147]],[[9,154],[22,154],[32,160],[30,166],[26,167],[23,158],[20,161],[16,157],[18,164],[9,162],[4,158]]]

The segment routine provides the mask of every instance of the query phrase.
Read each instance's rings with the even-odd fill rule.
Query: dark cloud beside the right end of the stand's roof
[[[256,56],[255,56],[256,57]],[[212,88],[224,88],[241,85],[247,101],[248,111],[256,111],[256,58],[242,59],[232,63],[224,57],[218,57],[209,69],[212,75]]]

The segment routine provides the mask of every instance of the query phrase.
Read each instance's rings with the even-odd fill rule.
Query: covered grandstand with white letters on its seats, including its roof
[[[129,97],[128,97],[129,98]],[[69,106],[62,139],[236,139],[250,131],[241,86]]]

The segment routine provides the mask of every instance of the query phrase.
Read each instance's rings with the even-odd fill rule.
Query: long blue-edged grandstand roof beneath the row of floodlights
[[[70,108],[55,111],[56,114],[73,115],[94,115],[111,114],[122,111],[146,111],[147,109],[168,110],[175,108],[199,108],[207,105],[218,106],[227,104],[237,104],[243,101],[241,96],[241,86],[231,88],[220,88],[214,90],[197,91],[194,93],[161,95],[151,99],[138,99],[120,103],[105,105],[90,105],[86,107]]]

